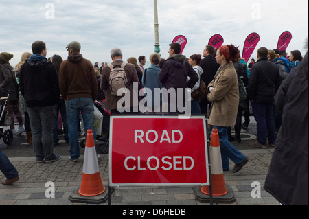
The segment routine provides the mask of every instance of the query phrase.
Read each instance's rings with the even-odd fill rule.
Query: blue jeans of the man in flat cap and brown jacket
[[[69,126],[70,156],[71,159],[80,157],[80,148],[78,143],[78,124],[80,122],[80,112],[84,123],[84,132],[87,137],[87,130],[93,130],[93,100],[90,98],[76,98],[67,100],[67,124]],[[94,141],[96,139],[93,131]]]

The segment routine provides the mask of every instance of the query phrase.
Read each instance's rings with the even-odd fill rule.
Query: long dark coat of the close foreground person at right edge
[[[282,82],[275,105],[282,126],[264,189],[282,205],[308,205],[308,52]]]

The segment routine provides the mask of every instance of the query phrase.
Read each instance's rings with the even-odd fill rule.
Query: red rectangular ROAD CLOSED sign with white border
[[[209,185],[205,116],[111,117],[111,186]]]

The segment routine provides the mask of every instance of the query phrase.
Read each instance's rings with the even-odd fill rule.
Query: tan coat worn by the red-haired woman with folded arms
[[[209,85],[215,90],[207,95],[212,102],[208,124],[211,126],[231,127],[236,123],[239,103],[238,78],[233,63],[229,62],[218,69]]]

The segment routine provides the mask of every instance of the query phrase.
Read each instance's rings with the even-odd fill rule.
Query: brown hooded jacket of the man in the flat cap
[[[70,54],[59,69],[60,93],[66,100],[97,99],[98,82],[91,62],[82,54]]]

